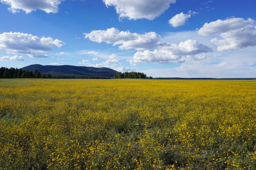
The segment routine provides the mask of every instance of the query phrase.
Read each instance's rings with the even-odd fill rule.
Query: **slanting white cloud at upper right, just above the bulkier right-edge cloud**
[[[217,21],[205,23],[204,26],[197,31],[197,33],[201,36],[208,36],[216,33],[220,34],[243,28],[247,25],[252,25],[253,23],[254,20],[251,18],[248,18],[247,20],[244,20],[243,18],[228,18],[226,20],[218,19]]]

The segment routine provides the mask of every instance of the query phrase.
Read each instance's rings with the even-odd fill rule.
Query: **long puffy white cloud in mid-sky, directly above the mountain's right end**
[[[91,33],[84,33],[85,37],[94,42],[106,42],[108,44],[120,45],[120,49],[152,49],[157,46],[160,36],[155,32],[145,34],[130,33],[129,31],[119,31],[116,28],[105,30],[95,30]]]

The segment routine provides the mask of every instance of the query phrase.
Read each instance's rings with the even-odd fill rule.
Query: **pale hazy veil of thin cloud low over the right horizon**
[[[214,52],[202,61],[189,60],[173,68],[138,70],[153,77],[182,78],[254,78],[256,49],[248,47],[232,52]],[[212,56],[211,56],[212,55]]]

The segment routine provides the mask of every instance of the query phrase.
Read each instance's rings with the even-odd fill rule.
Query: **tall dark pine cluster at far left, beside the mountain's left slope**
[[[33,73],[32,71],[26,71],[22,69],[15,69],[15,68],[0,68],[0,78],[52,78],[50,74],[43,74],[38,70],[35,70]]]

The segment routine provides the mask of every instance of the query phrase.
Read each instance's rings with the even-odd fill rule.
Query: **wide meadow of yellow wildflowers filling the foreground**
[[[0,79],[0,169],[256,169],[256,81]]]

